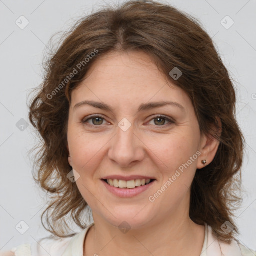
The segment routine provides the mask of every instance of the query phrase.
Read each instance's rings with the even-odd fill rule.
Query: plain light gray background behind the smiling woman
[[[28,121],[27,93],[41,82],[46,45],[53,33],[68,30],[79,17],[111,2],[117,1],[0,0],[0,250],[50,234],[40,222],[46,199],[32,179],[28,157],[28,150],[38,141]],[[256,0],[165,2],[201,21],[235,81],[236,117],[246,138],[244,199],[235,220],[240,241],[256,249]],[[29,21],[24,29],[15,23],[21,15]],[[231,27],[226,15],[234,21]],[[25,121],[28,127],[22,126]],[[20,221],[28,225],[24,234],[20,232],[26,224]]]

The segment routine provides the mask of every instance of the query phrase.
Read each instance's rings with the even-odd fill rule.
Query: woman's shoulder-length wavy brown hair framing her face
[[[70,94],[100,56],[132,50],[151,56],[167,79],[189,95],[201,134],[220,141],[213,161],[196,170],[189,215],[197,224],[210,225],[216,238],[230,243],[239,234],[232,218],[241,201],[237,191],[241,188],[244,137],[235,119],[233,82],[200,22],[168,4],[128,1],[80,18],[54,45],[57,47],[43,61],[43,82],[33,90],[36,95],[29,105],[29,120],[41,139],[32,149],[38,149],[33,178],[50,193],[49,205],[41,215],[44,228],[57,237],[68,237],[74,233],[68,234],[71,228],[66,219],[81,228],[87,226],[83,220],[88,205],[75,182],[67,178],[72,170],[66,147]],[[178,80],[169,75],[174,67],[183,73]],[[220,135],[212,129],[218,127],[217,118],[222,125]],[[43,223],[45,213],[49,228]],[[225,221],[234,226],[228,234],[221,230]]]

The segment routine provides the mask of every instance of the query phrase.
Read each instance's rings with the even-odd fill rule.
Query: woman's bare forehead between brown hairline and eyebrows
[[[189,104],[185,91],[171,83],[150,56],[138,51],[111,52],[98,58],[71,98],[72,106],[86,99],[126,107],[167,100]]]

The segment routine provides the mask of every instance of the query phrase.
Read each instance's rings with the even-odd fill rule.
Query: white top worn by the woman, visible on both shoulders
[[[11,249],[0,252],[0,256],[83,256],[83,244],[87,231],[94,225],[88,225],[81,232],[67,238],[43,238],[31,244],[25,243]],[[221,254],[221,251],[223,254]],[[212,229],[205,224],[205,236],[200,256],[255,256],[253,251],[237,240],[231,244],[223,243],[213,237]]]

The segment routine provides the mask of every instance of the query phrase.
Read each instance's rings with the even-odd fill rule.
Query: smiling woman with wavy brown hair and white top
[[[235,91],[197,20],[147,0],[105,8],[46,64],[29,119],[54,237],[6,255],[255,255],[235,238]]]

